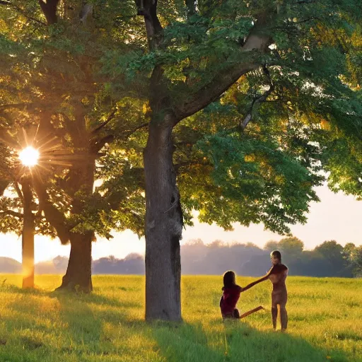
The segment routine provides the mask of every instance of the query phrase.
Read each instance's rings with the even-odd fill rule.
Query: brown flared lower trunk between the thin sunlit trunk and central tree
[[[71,253],[66,274],[58,289],[90,293],[92,285],[92,239],[93,233],[71,235]]]

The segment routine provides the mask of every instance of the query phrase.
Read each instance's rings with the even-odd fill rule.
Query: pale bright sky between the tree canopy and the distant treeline
[[[341,245],[349,242],[362,245],[362,202],[341,192],[334,194],[326,185],[317,187],[316,191],[321,202],[310,205],[308,223],[291,226],[293,235],[303,241],[306,250],[325,240],[337,240]],[[123,258],[131,252],[144,254],[144,238],[139,239],[132,231],[113,233],[113,236],[110,241],[98,240],[93,243],[93,259],[109,255]],[[279,241],[283,236],[264,230],[262,224],[252,224],[249,228],[235,224],[233,231],[224,231],[216,225],[194,220],[194,226],[183,231],[181,244],[197,238],[204,243],[223,240],[225,243],[250,242],[263,247],[267,241]],[[69,257],[69,251],[70,246],[61,245],[57,239],[35,236],[35,262],[50,260],[58,255]],[[0,257],[11,257],[21,262],[21,238],[12,234],[0,235]]]

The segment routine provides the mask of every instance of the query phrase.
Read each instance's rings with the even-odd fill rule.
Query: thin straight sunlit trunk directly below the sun
[[[23,191],[23,288],[34,288],[34,216],[31,211],[33,192],[30,189],[29,181],[24,177]]]

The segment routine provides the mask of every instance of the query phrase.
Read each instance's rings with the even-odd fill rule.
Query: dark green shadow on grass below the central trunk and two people
[[[344,351],[327,355],[288,333],[262,332],[239,321],[220,323],[220,328],[215,322],[210,326],[164,324],[151,329],[151,333],[168,362],[349,362]],[[214,331],[208,332],[209,327]]]

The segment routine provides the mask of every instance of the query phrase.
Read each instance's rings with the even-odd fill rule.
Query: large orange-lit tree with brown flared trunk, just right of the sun
[[[71,244],[61,287],[91,291],[95,233],[105,238],[112,228],[140,233],[144,214],[140,168],[127,162],[132,152],[122,153],[146,126],[142,103],[132,98],[132,89],[119,89],[115,99],[99,71],[99,58],[123,45],[123,29],[112,39],[107,31],[127,4],[114,1],[112,8],[99,8],[97,24],[92,6],[82,1],[4,1],[0,9],[1,119],[38,130],[28,137],[41,158],[28,189],[38,214],[62,243]],[[6,124],[2,130],[9,132]],[[110,150],[112,142],[116,146]],[[9,146],[6,139],[4,144]],[[115,181],[112,170],[123,175]],[[94,189],[97,177],[103,186]]]

